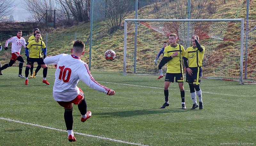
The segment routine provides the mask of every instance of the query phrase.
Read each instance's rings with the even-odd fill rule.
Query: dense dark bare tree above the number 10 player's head
[[[59,2],[62,16],[67,20],[72,18],[76,22],[90,20],[91,0],[56,0]]]

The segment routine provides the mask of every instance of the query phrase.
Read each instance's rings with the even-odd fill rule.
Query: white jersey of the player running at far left
[[[14,52],[20,53],[22,45],[24,46],[24,48],[26,48],[26,44],[27,44],[23,37],[20,37],[19,39],[17,36],[13,36],[5,42],[4,47],[7,47],[10,42],[12,43],[12,53]]]

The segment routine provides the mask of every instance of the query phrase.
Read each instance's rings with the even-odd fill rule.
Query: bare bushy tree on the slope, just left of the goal
[[[130,0],[105,0],[105,5],[99,5],[98,9],[105,12],[104,21],[109,27],[109,32],[112,33],[121,28],[122,20],[128,15],[132,6]]]

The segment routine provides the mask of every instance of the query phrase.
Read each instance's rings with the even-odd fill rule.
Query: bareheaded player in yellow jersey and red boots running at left
[[[25,70],[25,85],[28,85],[28,74],[29,74],[29,69],[31,65],[34,64],[34,62],[37,62],[38,65],[42,66],[44,68],[43,70],[43,83],[46,85],[50,85],[50,83],[46,80],[47,76],[47,65],[44,63],[44,59],[42,58],[42,50],[44,50],[44,58],[46,57],[46,46],[42,40],[40,40],[40,32],[36,33],[36,39],[32,40],[28,43],[26,47],[26,53],[28,54],[28,50],[30,50],[29,53],[29,59],[28,63],[26,65],[26,70]]]

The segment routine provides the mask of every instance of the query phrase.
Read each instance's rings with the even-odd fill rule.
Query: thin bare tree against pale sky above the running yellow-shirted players
[[[57,9],[55,0],[26,0],[25,3],[25,9],[31,13],[32,17],[36,21],[40,21],[41,19],[46,18],[46,10]]]

